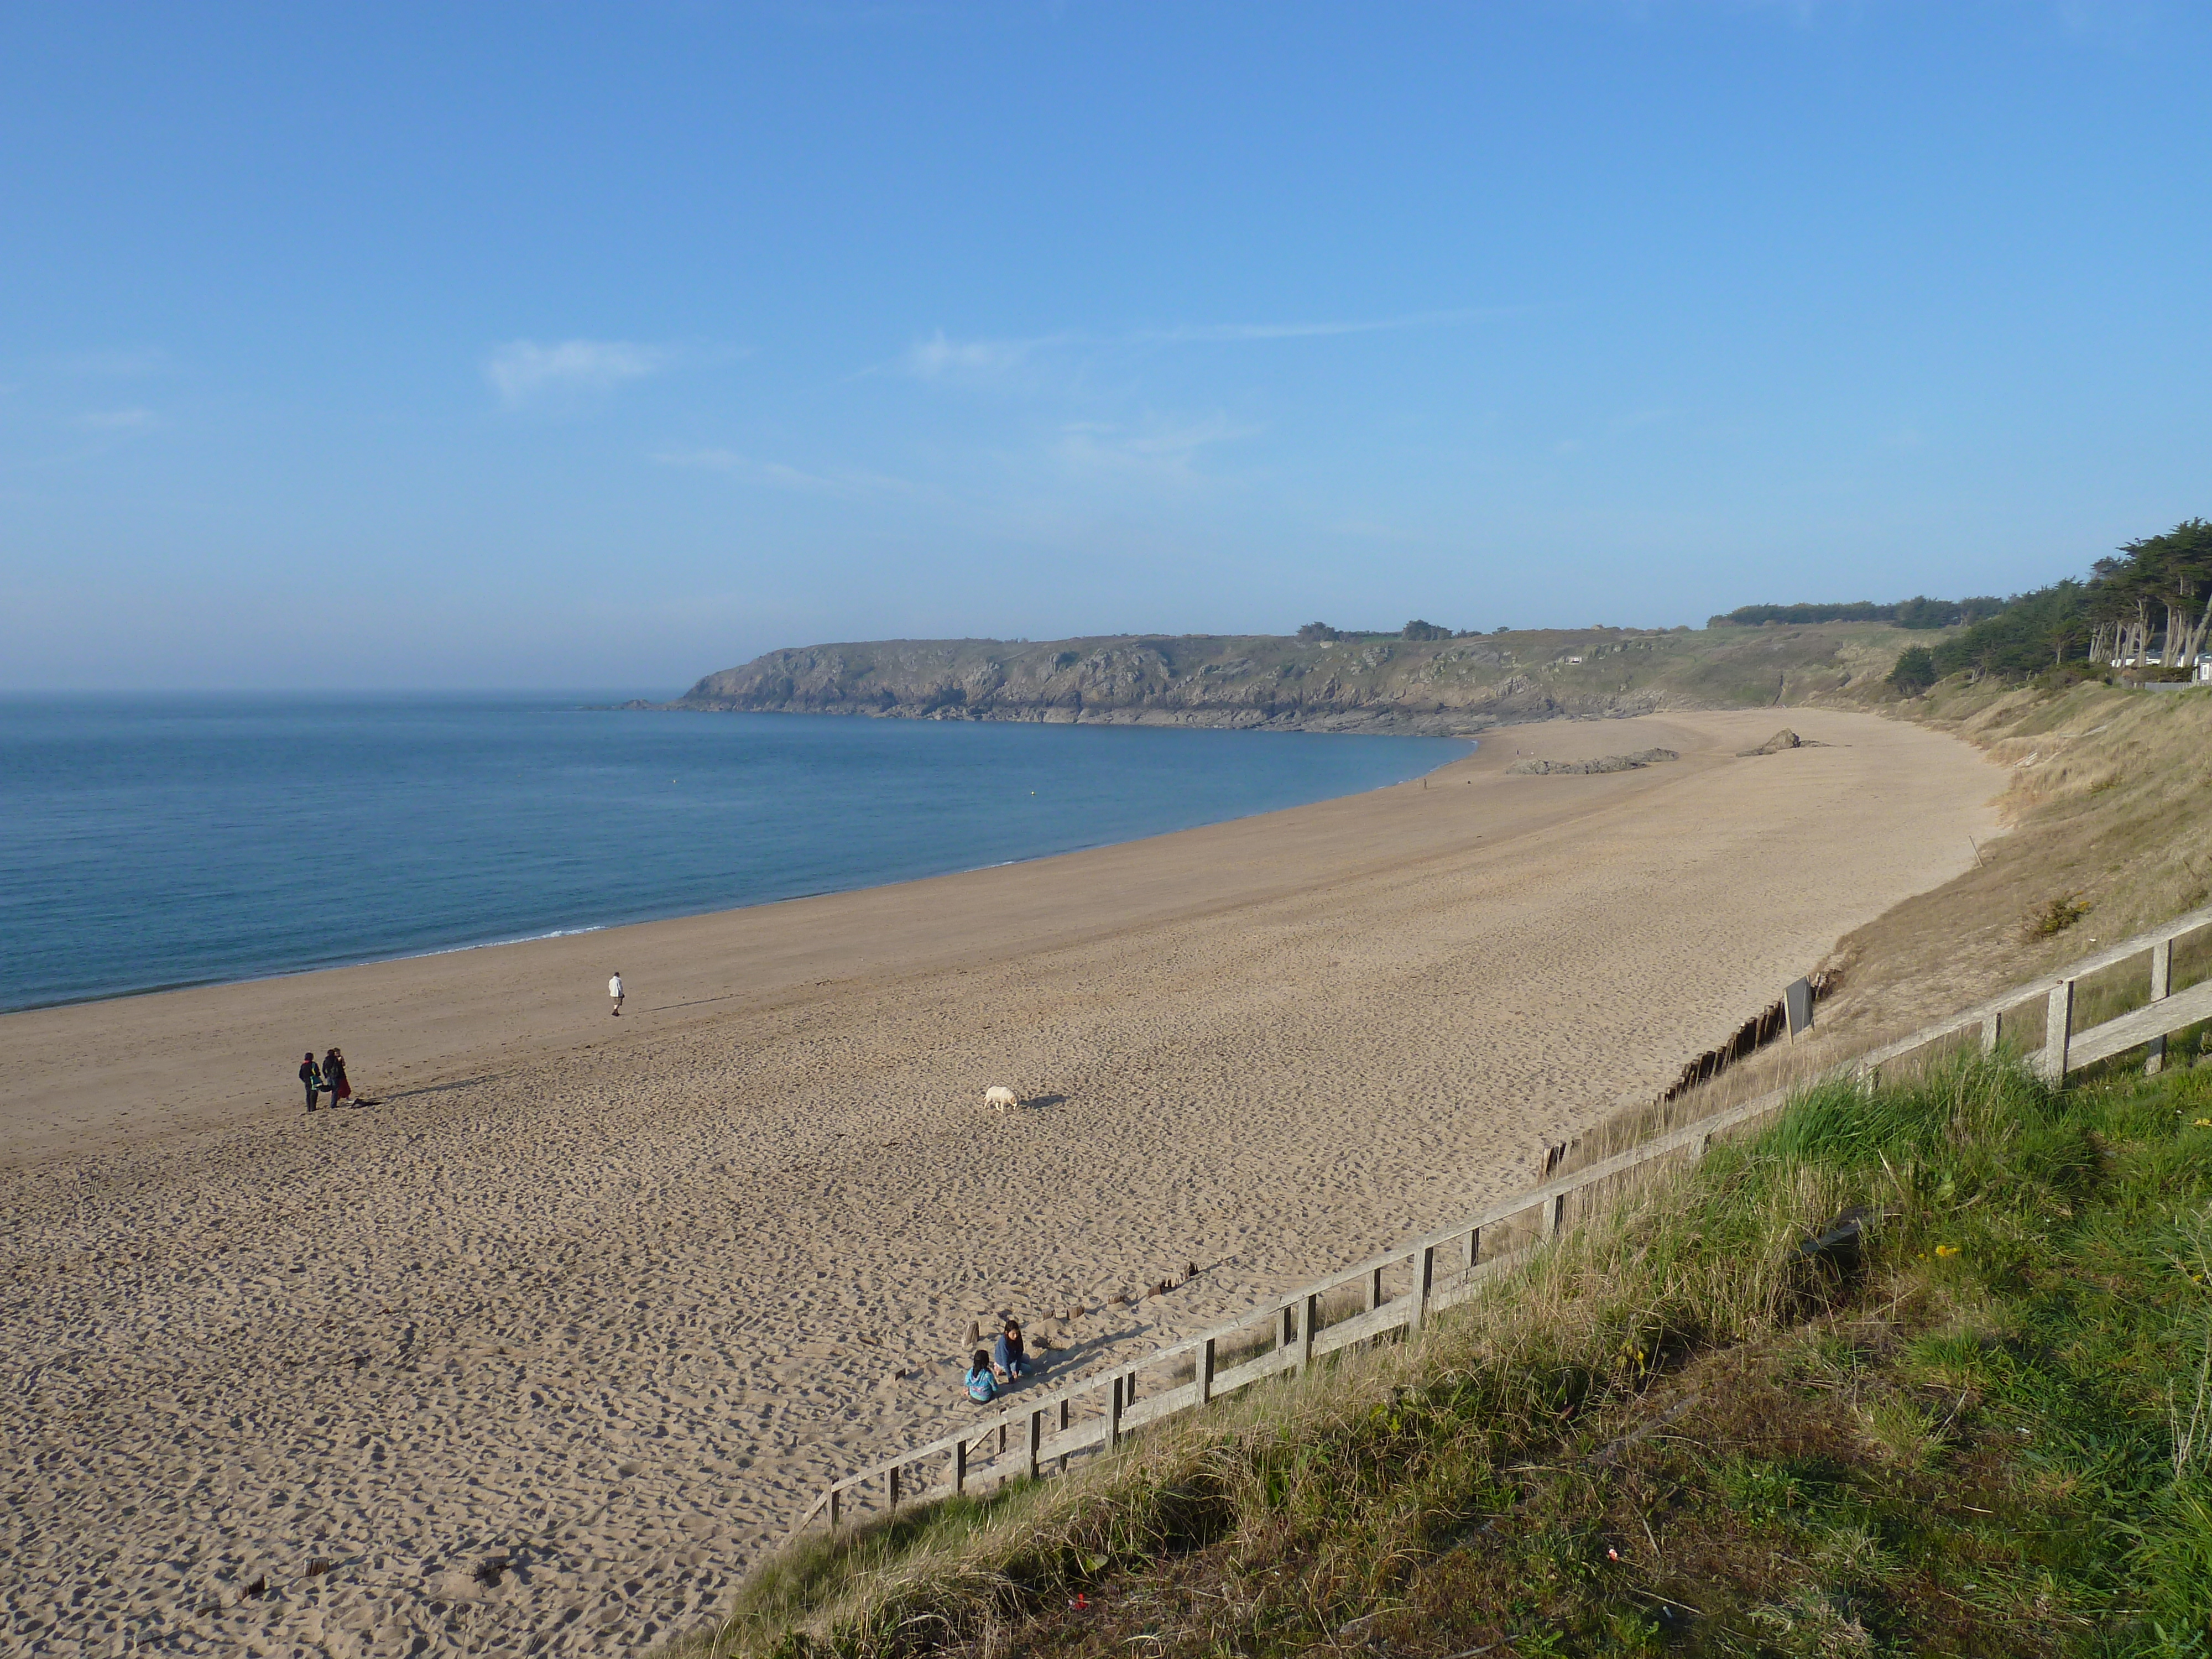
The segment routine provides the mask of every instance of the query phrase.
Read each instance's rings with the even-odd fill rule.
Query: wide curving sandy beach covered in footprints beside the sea
[[[1966,745],[1790,721],[1836,748],[1511,728],[1152,843],[0,1020],[13,1644],[686,1628],[818,1478],[949,1427],[971,1316],[1206,1267],[1084,1321],[1097,1365],[1440,1225],[1995,830]],[[1650,743],[1686,759],[1500,776]],[[332,1040],[385,1106],[301,1117]]]

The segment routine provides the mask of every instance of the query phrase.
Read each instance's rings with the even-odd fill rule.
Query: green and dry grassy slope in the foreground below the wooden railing
[[[816,1537],[708,1648],[2212,1655],[2212,1071],[1812,1091],[1420,1345]]]

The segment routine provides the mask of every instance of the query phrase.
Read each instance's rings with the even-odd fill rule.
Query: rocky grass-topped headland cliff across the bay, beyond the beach
[[[661,708],[1449,737],[1798,701],[1878,681],[1909,641],[1887,624],[883,639],[770,650]]]

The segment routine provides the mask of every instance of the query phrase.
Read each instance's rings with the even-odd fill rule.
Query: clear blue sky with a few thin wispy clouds
[[[0,11],[0,688],[1701,622],[2212,513],[2212,11]]]

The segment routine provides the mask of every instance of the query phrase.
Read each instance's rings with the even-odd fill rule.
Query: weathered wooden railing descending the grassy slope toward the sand
[[[2130,1048],[2150,1048],[2148,1068],[2157,1071],[2163,1064],[2168,1035],[2199,1020],[2212,1020],[2212,978],[2185,991],[2170,989],[2174,947],[2205,927],[2212,927],[2212,907],[2088,956],[2055,978],[2017,987],[1909,1037],[1829,1066],[1812,1079],[1774,1088],[1528,1192],[1500,1199],[1442,1232],[1396,1245],[1356,1267],[1261,1303],[1228,1325],[1186,1336],[1051,1394],[1024,1391],[1015,1405],[973,1420],[958,1433],[841,1475],[807,1506],[792,1531],[805,1528],[823,1511],[834,1528],[849,1513],[876,1509],[878,1495],[880,1509],[891,1511],[902,1502],[925,1502],[1004,1480],[1037,1480],[1066,1469],[1075,1455],[1110,1451],[1148,1422],[1190,1411],[1281,1371],[1303,1371],[1340,1347],[1391,1332],[1418,1336],[1436,1314],[1467,1301],[1484,1279],[1559,1232],[1571,1199],[1595,1199],[1608,1181],[1666,1157],[1703,1157],[1714,1135],[1767,1117],[1807,1082],[1834,1077],[1874,1082],[1882,1071],[1947,1051],[1973,1044],[1984,1053],[1993,1051],[2015,1037],[2013,1024],[2035,1002],[2044,1002],[2042,1046],[2033,1051],[2035,1068],[2044,1077],[2064,1082],[2070,1071]],[[2146,951],[2150,1000],[2088,1031],[2075,1031],[2079,982]],[[1484,1254],[1484,1234],[1495,1234],[1522,1217],[1533,1217],[1533,1241]],[[1528,1228],[1513,1232],[1520,1237]],[[1398,1283],[1394,1294],[1389,1281]],[[1159,1371],[1168,1371],[1168,1378],[1159,1378]],[[1139,1378],[1146,1378],[1144,1387]]]

